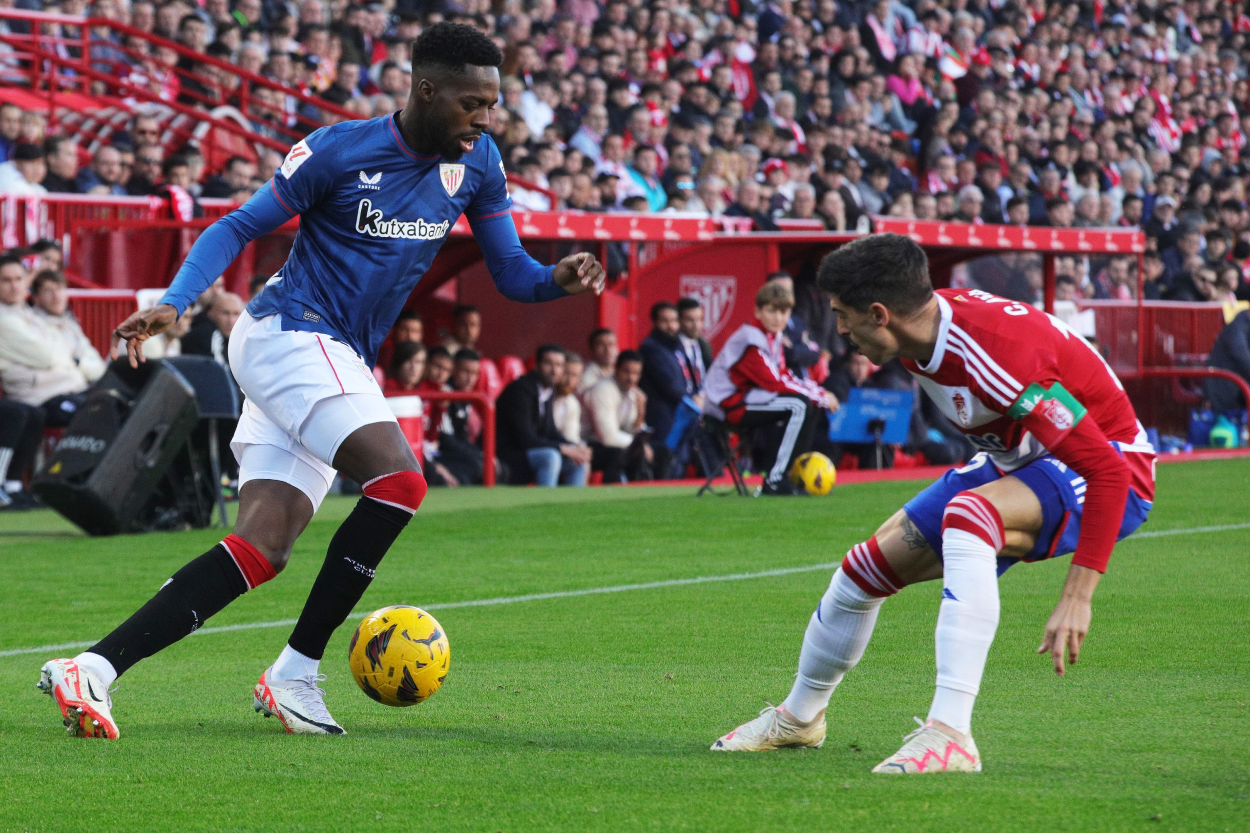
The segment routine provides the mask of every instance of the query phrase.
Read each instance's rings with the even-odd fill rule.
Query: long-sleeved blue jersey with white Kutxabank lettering
[[[161,302],[181,312],[242,246],[294,215],[300,230],[291,252],[248,312],[279,315],[284,330],[334,336],[370,365],[461,214],[506,297],[564,296],[554,267],[521,249],[490,136],[456,162],[419,156],[400,136],[398,115],[321,127],[291,147],[246,205],[196,241]]]

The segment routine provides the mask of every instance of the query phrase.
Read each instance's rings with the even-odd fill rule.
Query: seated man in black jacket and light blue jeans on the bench
[[[564,363],[562,347],[542,345],[534,370],[512,381],[495,401],[496,451],[514,483],[586,485],[590,448],[565,440],[551,412]]]

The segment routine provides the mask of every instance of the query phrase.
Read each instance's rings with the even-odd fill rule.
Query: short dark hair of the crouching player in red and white
[[[859,237],[820,261],[816,283],[860,312],[882,303],[906,315],[932,297],[929,257],[914,240],[881,234]]]

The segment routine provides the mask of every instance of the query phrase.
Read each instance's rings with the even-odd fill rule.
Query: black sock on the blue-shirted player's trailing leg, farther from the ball
[[[88,651],[108,659],[121,676],[140,659],[192,633],[245,592],[248,579],[219,543],[174,573],[134,616]]]

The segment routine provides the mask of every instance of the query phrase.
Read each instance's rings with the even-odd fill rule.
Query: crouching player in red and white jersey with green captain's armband
[[[711,748],[819,747],[825,707],[864,654],[881,603],[941,578],[929,719],[872,772],[980,772],[972,704],[999,624],[998,576],[1075,551],[1038,648],[1062,674],[1065,651],[1075,663],[1089,632],[1111,548],[1150,511],[1155,450],[1080,336],[988,292],[934,292],[924,250],[908,237],[850,242],[825,257],[818,282],[839,332],[879,365],[901,358],[981,453],[851,548],[808,623],[790,696]]]

